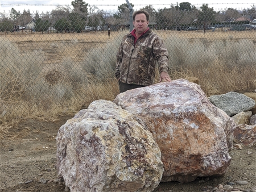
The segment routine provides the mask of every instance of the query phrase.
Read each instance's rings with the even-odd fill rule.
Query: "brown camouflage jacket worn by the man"
[[[158,35],[148,30],[134,44],[134,36],[127,34],[117,53],[115,77],[126,84],[152,85],[156,61],[160,73],[168,72],[168,52]]]

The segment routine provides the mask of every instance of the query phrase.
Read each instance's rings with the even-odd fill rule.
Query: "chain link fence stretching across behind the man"
[[[129,33],[129,7],[119,7],[1,13],[1,118],[72,114],[96,99],[113,100],[115,55]],[[255,89],[255,7],[144,9],[168,48],[172,80],[196,77],[208,96]]]

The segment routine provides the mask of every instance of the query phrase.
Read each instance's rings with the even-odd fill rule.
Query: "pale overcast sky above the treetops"
[[[71,2],[75,0],[0,0],[0,12],[9,13],[11,8],[14,8],[16,11],[23,12],[23,10],[30,10],[31,13],[35,13],[36,10],[39,11],[39,14],[44,11],[51,12],[52,10],[56,9],[57,5],[60,6],[71,6]],[[243,10],[250,8],[256,3],[253,1],[248,0],[242,2],[242,0],[226,0],[225,3],[223,0],[214,0],[214,1],[205,1],[205,0],[184,0],[184,1],[173,1],[173,0],[127,0],[129,3],[134,5],[134,10],[141,9],[147,5],[152,5],[156,10],[163,9],[164,7],[169,8],[170,4],[176,5],[176,3],[181,2],[189,2],[196,7],[200,7],[203,3],[208,4],[209,7],[213,7],[214,10],[224,10],[225,8],[234,8],[237,10]],[[103,10],[117,10],[119,5],[127,2],[126,0],[84,0],[85,3],[88,3],[90,6],[96,6],[98,9]]]

